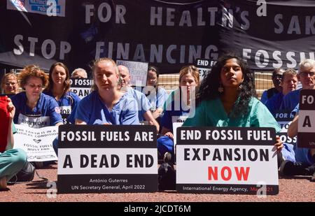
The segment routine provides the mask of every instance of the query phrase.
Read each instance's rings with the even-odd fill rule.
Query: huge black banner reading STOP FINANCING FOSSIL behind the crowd
[[[89,69],[93,59],[111,57],[178,73],[195,59],[230,51],[256,70],[296,69],[315,58],[314,1],[55,2],[1,0],[0,64],[48,71],[59,61]]]

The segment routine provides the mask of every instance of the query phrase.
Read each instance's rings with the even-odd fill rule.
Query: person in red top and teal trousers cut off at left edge
[[[7,187],[7,182],[22,170],[27,161],[27,154],[19,148],[13,149],[13,124],[15,107],[7,96],[0,96],[0,190]]]

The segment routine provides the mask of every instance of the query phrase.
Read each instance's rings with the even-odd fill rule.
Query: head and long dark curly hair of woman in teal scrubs
[[[202,82],[197,103],[220,98],[225,111],[237,117],[248,113],[248,103],[255,96],[253,76],[246,62],[235,55],[224,55]]]

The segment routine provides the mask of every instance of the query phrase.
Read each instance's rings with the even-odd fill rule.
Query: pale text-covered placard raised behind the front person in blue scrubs
[[[126,66],[131,76],[130,85],[146,86],[146,77],[148,76],[147,62],[133,62],[125,60],[117,60],[117,65]]]

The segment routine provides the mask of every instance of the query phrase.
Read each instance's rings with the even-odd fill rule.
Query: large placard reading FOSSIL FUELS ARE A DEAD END
[[[62,125],[59,193],[158,191],[154,126]]]

